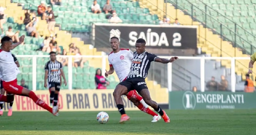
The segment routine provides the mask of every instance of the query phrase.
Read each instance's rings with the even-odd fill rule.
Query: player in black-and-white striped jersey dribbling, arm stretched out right
[[[144,101],[154,108],[163,118],[165,122],[170,122],[169,117],[159,106],[158,103],[153,101],[149,94],[149,89],[145,82],[145,78],[148,75],[150,63],[152,61],[160,63],[171,63],[178,59],[178,57],[171,57],[171,59],[159,58],[157,55],[145,51],[146,41],[142,38],[137,39],[133,53],[132,64],[130,67],[130,73],[125,81],[120,82],[114,92],[113,96],[117,104],[117,108],[121,113],[120,123],[123,123],[130,119],[124,111],[124,105],[121,96],[127,94],[129,91],[135,89],[144,99]]]

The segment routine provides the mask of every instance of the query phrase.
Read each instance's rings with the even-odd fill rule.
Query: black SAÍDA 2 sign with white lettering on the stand
[[[194,26],[95,24],[93,34],[95,47],[110,46],[110,37],[116,36],[126,48],[133,48],[138,38],[146,40],[147,48],[197,48],[197,28]]]

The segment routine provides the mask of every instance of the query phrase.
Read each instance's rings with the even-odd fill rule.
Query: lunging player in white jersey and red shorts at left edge
[[[2,49],[0,49],[0,74],[2,76],[3,88],[7,94],[21,95],[31,98],[37,105],[43,107],[45,110],[57,116],[59,108],[53,109],[49,107],[43,100],[39,99],[35,93],[20,85],[17,85],[17,66],[13,61],[10,50],[15,48],[24,41],[25,35],[20,37],[20,42],[12,45],[10,37],[3,37],[1,39]],[[12,102],[14,99],[8,99],[5,95],[0,95],[0,101]]]

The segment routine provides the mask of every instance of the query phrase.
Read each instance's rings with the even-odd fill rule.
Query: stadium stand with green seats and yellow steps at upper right
[[[250,0],[181,0],[178,1],[179,4],[175,5],[176,2],[175,0],[169,0],[167,3],[159,0],[150,0],[150,2],[142,0],[139,1],[139,4],[141,7],[149,8],[150,12],[158,14],[160,19],[166,14],[171,22],[174,22],[177,17],[182,25],[198,25],[198,48],[212,57],[249,57],[255,52],[255,46],[252,45],[255,41],[252,34],[255,13],[252,12],[254,3]],[[157,7],[156,5],[164,6]],[[191,10],[192,5],[193,11]],[[205,8],[206,13],[204,12]],[[222,24],[222,32],[220,32],[220,24]],[[236,40],[235,34],[237,34]],[[237,47],[233,47],[234,43]],[[247,73],[248,62],[247,60],[236,60],[235,72],[237,75],[242,76]],[[226,68],[231,68],[230,61],[221,60],[221,64]],[[254,69],[253,76],[256,75],[255,72]],[[245,76],[242,77],[245,79]]]

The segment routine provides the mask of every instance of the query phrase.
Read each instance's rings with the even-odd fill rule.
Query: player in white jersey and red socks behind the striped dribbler
[[[111,37],[110,45],[113,51],[108,55],[110,69],[109,71],[106,70],[105,76],[108,77],[108,75],[114,73],[115,70],[119,81],[124,81],[130,72],[133,52],[129,49],[119,48],[120,43],[118,37]],[[148,108],[148,105],[145,103],[143,98],[137,94],[136,90],[131,90],[128,94],[126,94],[126,96],[141,111],[153,116],[153,120],[151,122],[157,122],[161,119],[160,115]],[[124,117],[126,117],[126,115],[121,115],[120,122],[122,122]]]

